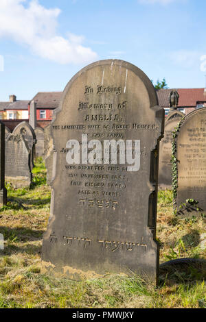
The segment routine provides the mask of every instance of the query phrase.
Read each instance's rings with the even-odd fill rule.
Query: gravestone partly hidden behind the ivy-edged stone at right
[[[175,110],[165,119],[164,137],[159,145],[159,188],[172,189],[172,141],[173,132],[185,114]]]

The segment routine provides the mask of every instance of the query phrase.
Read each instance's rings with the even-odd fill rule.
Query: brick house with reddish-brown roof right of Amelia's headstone
[[[169,95],[171,90],[176,90],[179,93],[178,110],[186,115],[190,112],[206,107],[206,88],[167,88],[157,90],[159,106],[165,109],[165,116],[170,110]]]

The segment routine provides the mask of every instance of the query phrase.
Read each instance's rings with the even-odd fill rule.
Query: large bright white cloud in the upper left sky
[[[60,64],[92,62],[97,54],[84,47],[83,36],[56,33],[60,9],[47,9],[38,0],[0,0],[0,37],[27,45],[36,55]]]

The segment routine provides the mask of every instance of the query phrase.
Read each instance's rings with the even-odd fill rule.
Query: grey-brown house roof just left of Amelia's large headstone
[[[62,92],[38,92],[31,101],[36,102],[36,108],[58,108]],[[30,103],[31,103],[30,101]]]

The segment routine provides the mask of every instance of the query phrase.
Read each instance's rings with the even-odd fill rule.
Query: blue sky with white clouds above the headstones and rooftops
[[[80,69],[126,60],[153,83],[206,86],[205,0],[0,0],[0,101],[62,91]]]

